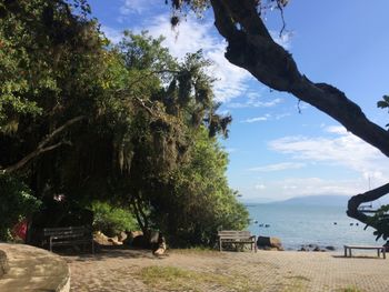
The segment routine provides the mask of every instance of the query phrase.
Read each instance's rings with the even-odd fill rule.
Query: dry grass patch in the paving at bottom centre
[[[250,283],[250,280],[241,274],[222,275],[176,266],[147,266],[138,272],[138,276],[149,288],[164,291],[202,292],[209,290],[209,286],[219,286],[235,292],[262,290],[259,284]]]

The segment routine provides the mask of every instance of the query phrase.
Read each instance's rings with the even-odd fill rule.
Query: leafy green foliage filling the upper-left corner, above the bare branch
[[[77,99],[69,91],[90,88],[96,79],[90,72],[98,70],[88,58],[100,39],[87,12],[83,0],[0,4],[0,131],[10,121],[51,112],[68,97]]]

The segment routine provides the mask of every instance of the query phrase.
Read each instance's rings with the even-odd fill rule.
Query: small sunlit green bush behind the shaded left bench
[[[101,231],[106,235],[113,236],[120,231],[139,229],[133,215],[123,208],[94,201],[92,211],[94,213],[93,230]]]

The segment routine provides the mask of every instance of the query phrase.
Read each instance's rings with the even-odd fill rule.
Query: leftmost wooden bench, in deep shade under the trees
[[[94,253],[93,235],[88,226],[69,226],[69,228],[46,228],[43,236],[47,239],[50,251],[54,245],[77,245],[92,244],[92,253]]]

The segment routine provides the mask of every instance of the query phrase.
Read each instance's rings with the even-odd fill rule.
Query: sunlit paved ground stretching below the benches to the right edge
[[[66,260],[71,270],[73,292],[166,291],[151,289],[137,276],[137,271],[152,265],[176,266],[211,275],[245,275],[249,282],[258,283],[261,292],[389,291],[389,260],[373,258],[375,253],[351,259],[341,254],[342,251],[219,253],[173,250],[167,256],[154,258],[149,251],[107,250],[94,256],[66,256]],[[199,283],[189,291],[235,290]]]

